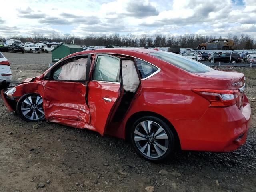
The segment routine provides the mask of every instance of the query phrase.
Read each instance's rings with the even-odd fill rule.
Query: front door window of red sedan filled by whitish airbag
[[[53,80],[85,81],[87,58],[72,60],[53,72]]]

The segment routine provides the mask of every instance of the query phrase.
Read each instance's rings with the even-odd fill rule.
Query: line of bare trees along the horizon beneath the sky
[[[75,44],[78,45],[90,45],[90,46],[107,46],[109,44],[115,44],[119,46],[127,47],[171,47],[171,48],[196,48],[198,44],[202,42],[208,42],[212,39],[221,38],[216,36],[200,35],[200,34],[185,34],[180,36],[173,35],[147,35],[142,34],[140,36],[134,34],[120,35],[118,33],[111,34],[109,36],[95,36],[90,34],[84,38],[65,36],[62,37],[59,34],[52,33],[48,37],[42,34],[35,33],[31,37],[13,36],[21,40],[22,42],[28,41],[28,38],[32,38],[34,42],[38,41],[52,41],[52,42],[66,42],[70,43],[74,39]],[[233,39],[236,49],[252,49],[256,48],[256,42],[254,39],[247,35],[241,34],[236,36],[232,34],[227,35],[228,39]],[[0,38],[1,40],[1,38]]]

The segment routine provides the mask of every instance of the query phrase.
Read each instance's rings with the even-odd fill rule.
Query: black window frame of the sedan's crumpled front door
[[[66,63],[68,63],[68,62],[70,62],[70,61],[72,61],[74,59],[81,59],[81,58],[85,58],[86,56],[87,56],[87,63],[86,63],[86,76],[85,76],[85,80],[56,80],[56,79],[53,79],[53,74],[54,74],[54,72],[56,70],[58,70],[58,68],[60,68],[64,64],[66,64]],[[46,77],[50,76],[48,80],[56,81],[56,82],[80,82],[80,83],[86,83],[89,80],[90,64],[91,64],[91,54],[82,54],[82,55],[71,56],[71,57],[68,57],[68,58],[64,59],[60,63],[58,63],[56,66],[54,66],[50,70],[50,72],[48,73],[49,75],[46,74]]]

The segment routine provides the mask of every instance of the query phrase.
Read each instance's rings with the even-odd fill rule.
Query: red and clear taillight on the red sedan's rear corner
[[[238,90],[192,89],[193,92],[210,102],[210,107],[227,107],[239,102]]]

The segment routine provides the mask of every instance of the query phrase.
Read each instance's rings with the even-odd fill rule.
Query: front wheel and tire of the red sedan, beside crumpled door
[[[16,112],[25,121],[44,120],[43,99],[38,94],[25,94],[17,103]]]

